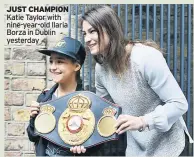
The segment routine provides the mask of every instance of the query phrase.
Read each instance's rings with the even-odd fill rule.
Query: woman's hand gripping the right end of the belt
[[[145,129],[147,124],[143,117],[135,117],[130,115],[120,115],[117,119],[115,127],[117,128],[116,133],[122,134],[128,130],[139,130]]]

